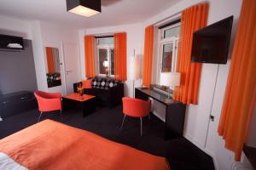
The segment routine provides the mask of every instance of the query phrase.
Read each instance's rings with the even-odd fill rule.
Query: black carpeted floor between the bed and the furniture
[[[0,139],[28,127],[38,121],[38,111],[28,111],[11,116],[0,122]],[[137,150],[143,150],[156,156],[165,156],[172,170],[212,170],[212,157],[191,144],[187,139],[164,139],[164,122],[151,116],[143,119],[143,137],[140,136],[139,119],[127,118],[124,129],[120,131],[123,119],[122,106],[113,109],[99,107],[96,113],[82,117],[79,110],[59,113],[47,113],[41,120],[52,119],[99,134],[107,139],[127,144]]]

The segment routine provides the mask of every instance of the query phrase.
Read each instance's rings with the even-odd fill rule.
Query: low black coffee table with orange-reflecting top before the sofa
[[[96,96],[73,93],[62,97],[62,106],[64,111],[67,111],[76,105],[80,105],[82,107],[83,116],[88,116],[96,111]]]

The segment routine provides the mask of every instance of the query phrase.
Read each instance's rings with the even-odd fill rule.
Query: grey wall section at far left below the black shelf
[[[0,51],[0,94],[38,88],[32,41],[24,40],[21,52]]]

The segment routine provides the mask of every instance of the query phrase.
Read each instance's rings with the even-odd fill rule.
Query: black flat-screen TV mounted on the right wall
[[[193,35],[191,61],[226,64],[230,47],[233,16],[220,20]]]

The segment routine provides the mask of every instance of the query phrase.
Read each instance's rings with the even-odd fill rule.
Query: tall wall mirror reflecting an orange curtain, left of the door
[[[46,54],[46,77],[48,88],[61,86],[61,67],[58,48],[45,48]]]

